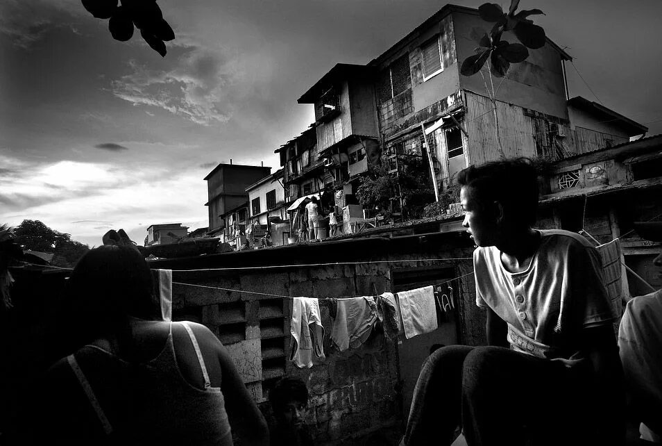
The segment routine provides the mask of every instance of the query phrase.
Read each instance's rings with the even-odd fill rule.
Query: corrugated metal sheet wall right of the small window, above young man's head
[[[482,164],[501,158],[492,102],[487,97],[465,92],[464,126],[468,138],[468,163]],[[536,140],[531,119],[519,106],[497,101],[497,116],[503,156],[536,156]]]

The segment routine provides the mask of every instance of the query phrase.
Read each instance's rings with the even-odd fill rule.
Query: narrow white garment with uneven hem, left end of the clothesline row
[[[312,367],[313,354],[325,358],[322,347],[324,327],[319,313],[319,300],[314,297],[294,297],[289,329],[292,348],[289,360],[297,367]]]

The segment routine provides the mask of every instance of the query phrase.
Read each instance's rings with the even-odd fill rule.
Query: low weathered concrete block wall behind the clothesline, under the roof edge
[[[395,445],[402,435],[408,412],[408,407],[403,407],[403,388],[413,389],[430,345],[465,340],[480,343],[480,333],[466,333],[464,327],[468,327],[468,322],[461,322],[458,310],[452,320],[430,333],[430,337],[403,342],[400,351],[418,352],[407,358],[407,363],[398,360],[398,345],[387,340],[379,329],[375,329],[361,347],[340,353],[331,345],[332,320],[328,308],[322,304],[323,345],[327,358],[314,361],[310,369],[300,370],[289,361],[291,300],[273,295],[319,298],[374,295],[375,288],[378,292],[396,290],[392,276],[402,271],[406,271],[410,279],[405,288],[400,289],[418,288],[436,280],[436,276],[430,276],[431,268],[445,271],[447,279],[470,272],[470,260],[439,259],[469,258],[472,250],[468,240],[440,233],[241,251],[206,259],[159,261],[152,266],[185,270],[255,266],[256,262],[260,265],[351,262],[283,268],[257,265],[249,270],[175,271],[173,281],[228,290],[174,284],[173,315],[201,322],[217,333],[230,350],[251,394],[263,403],[266,413],[269,413],[266,398],[275,379],[284,375],[301,377],[310,393],[305,422],[316,444],[363,444],[377,432],[390,432],[387,441]],[[367,261],[377,263],[364,263]],[[419,280],[416,276],[419,271],[428,274],[428,279]],[[469,274],[454,282],[457,283],[457,302],[463,308],[475,299],[473,285],[465,281],[470,283],[473,276]],[[236,290],[269,295],[250,295]],[[421,345],[416,347],[416,342]],[[407,393],[408,406],[411,390]]]

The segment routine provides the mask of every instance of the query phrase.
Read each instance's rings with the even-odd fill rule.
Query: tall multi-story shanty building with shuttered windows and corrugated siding
[[[337,204],[351,201],[357,176],[380,154],[396,175],[408,157],[427,163],[423,129],[442,190],[468,165],[511,156],[559,160],[647,131],[600,104],[570,99],[565,63],[572,58],[549,38],[503,78],[491,78],[488,65],[462,75],[478,46],[473,36],[492,25],[473,8],[444,6],[368,64],[335,65],[298,99],[314,104],[313,167],[326,165],[323,185],[343,191]],[[503,40],[517,42],[511,33]],[[300,156],[288,147],[281,164]],[[286,183],[288,174],[300,175],[286,172]]]

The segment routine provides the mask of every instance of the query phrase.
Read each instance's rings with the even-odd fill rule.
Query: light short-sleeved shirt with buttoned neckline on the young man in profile
[[[600,254],[576,233],[538,232],[540,246],[523,272],[508,272],[496,247],[474,251],[476,304],[507,322],[512,349],[541,358],[570,358],[579,350],[581,329],[613,318]]]

